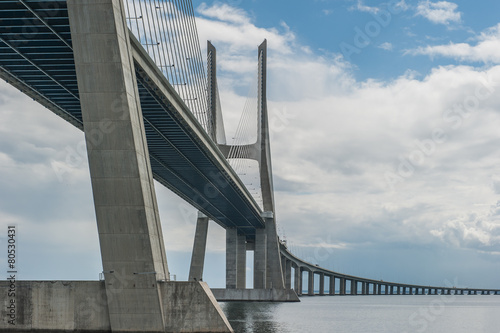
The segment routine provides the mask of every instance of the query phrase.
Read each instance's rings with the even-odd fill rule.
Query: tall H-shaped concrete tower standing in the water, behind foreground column
[[[264,228],[256,229],[254,238],[247,238],[239,234],[236,228],[226,228],[226,289],[214,290],[219,300],[223,299],[251,299],[257,300],[296,300],[295,295],[285,290],[278,235],[276,230],[276,215],[274,205],[274,189],[271,164],[271,145],[269,120],[267,110],[267,41],[258,47],[258,79],[257,79],[257,138],[255,142],[244,146],[234,146],[221,143],[218,140],[222,115],[217,95],[217,65],[216,49],[208,42],[208,108],[209,108],[209,135],[217,143],[220,151],[226,158],[241,158],[255,160],[258,163],[259,181],[262,191],[262,218]],[[237,157],[230,152],[237,150]],[[198,217],[195,244],[190,280],[199,280],[203,277],[203,260],[205,255],[208,217],[200,214]],[[246,289],[246,252],[254,251],[253,291]],[[232,292],[232,290],[239,292]],[[246,289],[242,293],[242,289]],[[272,290],[272,296],[263,296],[259,290]]]

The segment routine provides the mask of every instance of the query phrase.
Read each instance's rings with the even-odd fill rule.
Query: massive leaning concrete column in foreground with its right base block
[[[185,330],[187,323],[172,319],[174,298],[184,304],[178,316],[197,312],[196,331],[232,331],[206,285],[168,283],[123,1],[67,6],[111,331]],[[199,303],[189,307],[181,295]]]

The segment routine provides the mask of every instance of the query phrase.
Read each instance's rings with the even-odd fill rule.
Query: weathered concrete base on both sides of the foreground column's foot
[[[17,281],[17,320],[0,323],[0,332],[111,333],[104,281]],[[7,295],[9,284],[0,282]],[[161,332],[233,332],[204,282],[159,284],[165,327]],[[9,298],[2,297],[0,315],[7,318]],[[146,329],[122,330],[153,332]],[[113,333],[120,332],[113,330]]]

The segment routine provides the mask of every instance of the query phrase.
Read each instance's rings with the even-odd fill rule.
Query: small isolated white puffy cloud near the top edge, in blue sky
[[[457,12],[457,8],[457,4],[448,1],[420,1],[417,5],[417,15],[425,17],[432,23],[449,25],[462,21],[462,13]]]

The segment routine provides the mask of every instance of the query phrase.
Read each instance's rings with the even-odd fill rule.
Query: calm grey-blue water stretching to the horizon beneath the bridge
[[[236,333],[500,333],[500,296],[316,296],[221,305]]]

